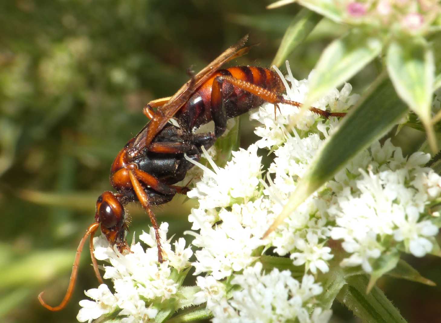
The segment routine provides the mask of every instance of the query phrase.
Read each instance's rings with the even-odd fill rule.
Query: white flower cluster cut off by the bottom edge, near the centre
[[[228,300],[224,284],[213,276],[199,276],[197,304],[207,302],[213,323],[291,322],[296,318],[300,323],[328,322],[332,312],[316,307],[315,296],[323,290],[320,284],[311,275],[303,276],[302,282],[291,275],[289,270],[278,269],[265,275],[257,262],[234,276],[232,284],[238,290]]]

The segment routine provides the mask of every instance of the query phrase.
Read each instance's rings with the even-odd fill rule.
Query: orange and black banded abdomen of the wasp
[[[213,81],[221,75],[232,76],[275,93],[281,93],[283,89],[279,76],[267,68],[238,66],[219,70],[202,84],[176,113],[175,118],[181,126],[185,126],[188,130],[194,130],[212,120],[211,94]],[[250,111],[264,102],[263,99],[226,81],[222,85],[222,98],[228,119]]]

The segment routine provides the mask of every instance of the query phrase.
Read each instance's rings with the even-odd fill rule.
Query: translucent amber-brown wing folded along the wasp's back
[[[129,149],[130,156],[136,156],[140,150],[149,145],[168,120],[179,111],[179,109],[190,99],[193,93],[224,63],[245,55],[250,50],[250,46],[243,47],[247,40],[248,35],[243,37],[237,44],[225,50],[221,55],[214,59],[213,62],[209,63],[209,65],[203,68],[202,71],[186,82],[166,104],[158,108],[155,117],[150,120],[148,126],[144,127],[135,137],[135,141],[133,141],[133,144]]]

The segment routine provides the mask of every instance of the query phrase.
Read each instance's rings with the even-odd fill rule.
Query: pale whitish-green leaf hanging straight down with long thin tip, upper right
[[[437,151],[431,122],[435,63],[432,49],[423,38],[400,39],[389,45],[386,64],[396,92],[426,128],[430,148]]]

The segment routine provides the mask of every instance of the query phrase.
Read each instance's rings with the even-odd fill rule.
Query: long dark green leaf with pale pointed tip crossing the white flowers
[[[282,213],[264,236],[333,178],[352,157],[381,138],[407,113],[406,104],[396,96],[392,83],[384,74],[374,83],[357,106],[344,117],[340,128],[327,139],[305,176],[298,182]]]

